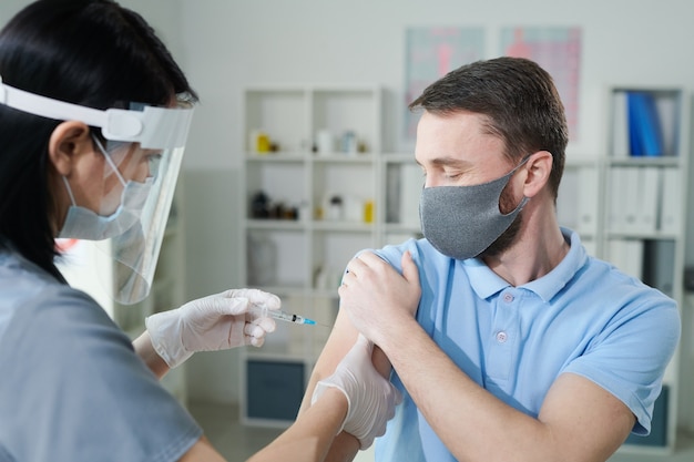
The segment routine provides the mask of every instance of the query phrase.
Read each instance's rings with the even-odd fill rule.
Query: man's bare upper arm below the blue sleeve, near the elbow
[[[582,454],[585,461],[606,460],[636,422],[614,394],[574,373],[557,379],[538,419],[548,425],[563,453]]]

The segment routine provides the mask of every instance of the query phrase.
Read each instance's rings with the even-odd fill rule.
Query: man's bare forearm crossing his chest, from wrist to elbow
[[[544,438],[539,421],[479,387],[418,325],[389,332],[381,348],[427,422],[457,459],[520,461],[518,452],[511,456],[519,443]],[[524,441],[513,441],[514,434]]]

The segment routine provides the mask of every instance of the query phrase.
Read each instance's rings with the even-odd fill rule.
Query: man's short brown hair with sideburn
[[[409,109],[483,114],[489,133],[504,142],[507,155],[516,162],[549,151],[553,157],[549,185],[557,198],[569,130],[552,76],[535,62],[502,57],[462,65],[429,85]]]

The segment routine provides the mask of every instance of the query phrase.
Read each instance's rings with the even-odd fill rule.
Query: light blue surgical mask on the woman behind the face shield
[[[63,183],[68,188],[72,205],[68,209],[65,223],[58,237],[88,240],[108,239],[125,233],[140,220],[142,215],[142,209],[152,188],[153,178],[149,177],[144,183],[125,182],[101,143],[98,140],[95,142],[123,185],[121,204],[113,214],[108,216],[99,215],[86,207],[79,206],[74,201],[68,178],[63,176]]]

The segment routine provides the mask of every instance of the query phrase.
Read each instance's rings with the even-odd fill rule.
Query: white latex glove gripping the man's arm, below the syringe
[[[372,350],[374,343],[359,333],[335,372],[316,384],[310,400],[312,404],[316,402],[328,387],[345,393],[348,410],[343,429],[359,440],[363,450],[386,432],[386,422],[392,419],[395,407],[402,401],[400,392],[374,368]]]

